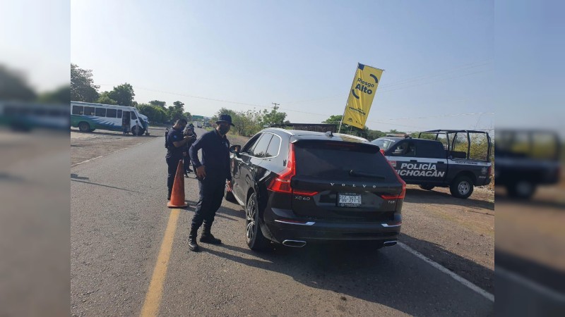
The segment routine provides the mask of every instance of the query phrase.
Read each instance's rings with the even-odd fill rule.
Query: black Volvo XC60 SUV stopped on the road
[[[269,241],[396,244],[406,184],[366,139],[269,128],[230,152],[234,186],[225,198],[245,209],[250,249]]]

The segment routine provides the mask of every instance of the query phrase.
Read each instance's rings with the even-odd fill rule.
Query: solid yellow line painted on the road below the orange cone
[[[145,302],[141,309],[141,317],[157,316],[159,313],[159,304],[161,303],[163,285],[167,276],[167,266],[171,257],[172,242],[174,240],[174,232],[177,231],[177,221],[179,220],[180,209],[172,209],[169,215],[169,223],[165,229],[165,236],[161,242],[161,249],[157,256],[157,263],[153,269],[153,276],[149,283],[149,289],[145,295]]]

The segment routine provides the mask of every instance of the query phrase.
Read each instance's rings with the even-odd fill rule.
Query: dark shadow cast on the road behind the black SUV
[[[444,309],[455,309],[452,307],[454,302],[471,301],[466,298],[468,294],[457,294],[457,290],[448,290],[449,286],[441,282],[445,281],[444,278],[451,281],[448,275],[434,271],[435,268],[400,247],[376,250],[367,244],[357,243],[309,244],[302,249],[281,246],[262,253],[228,244],[221,248],[226,251],[202,247],[203,251],[223,259],[285,274],[308,287],[345,295],[345,299],[342,297],[341,300],[347,300],[347,296],[354,297],[393,307],[410,315],[437,316],[445,314]],[[461,265],[468,266],[470,271],[477,271],[476,274],[492,278],[492,270],[462,259],[456,254],[450,254],[450,257]],[[425,274],[429,272],[427,270],[437,274]],[[414,272],[420,272],[421,276],[415,276]],[[460,287],[465,289],[463,285]],[[486,301],[485,299],[484,303],[487,303]],[[422,306],[422,303],[429,305]],[[461,303],[461,307],[470,310],[475,305],[481,307],[479,311],[492,309],[488,303]],[[472,314],[470,311],[458,313]]]

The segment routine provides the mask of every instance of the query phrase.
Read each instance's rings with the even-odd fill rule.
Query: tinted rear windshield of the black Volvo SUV
[[[352,178],[350,171],[396,180],[393,169],[376,147],[345,142],[297,142],[297,175],[319,178]],[[363,178],[363,176],[359,176]],[[369,177],[371,178],[371,177]]]

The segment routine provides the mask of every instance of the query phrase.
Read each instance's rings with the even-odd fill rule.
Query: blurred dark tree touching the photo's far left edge
[[[0,65],[0,99],[32,101],[35,92],[28,86],[23,73]]]

